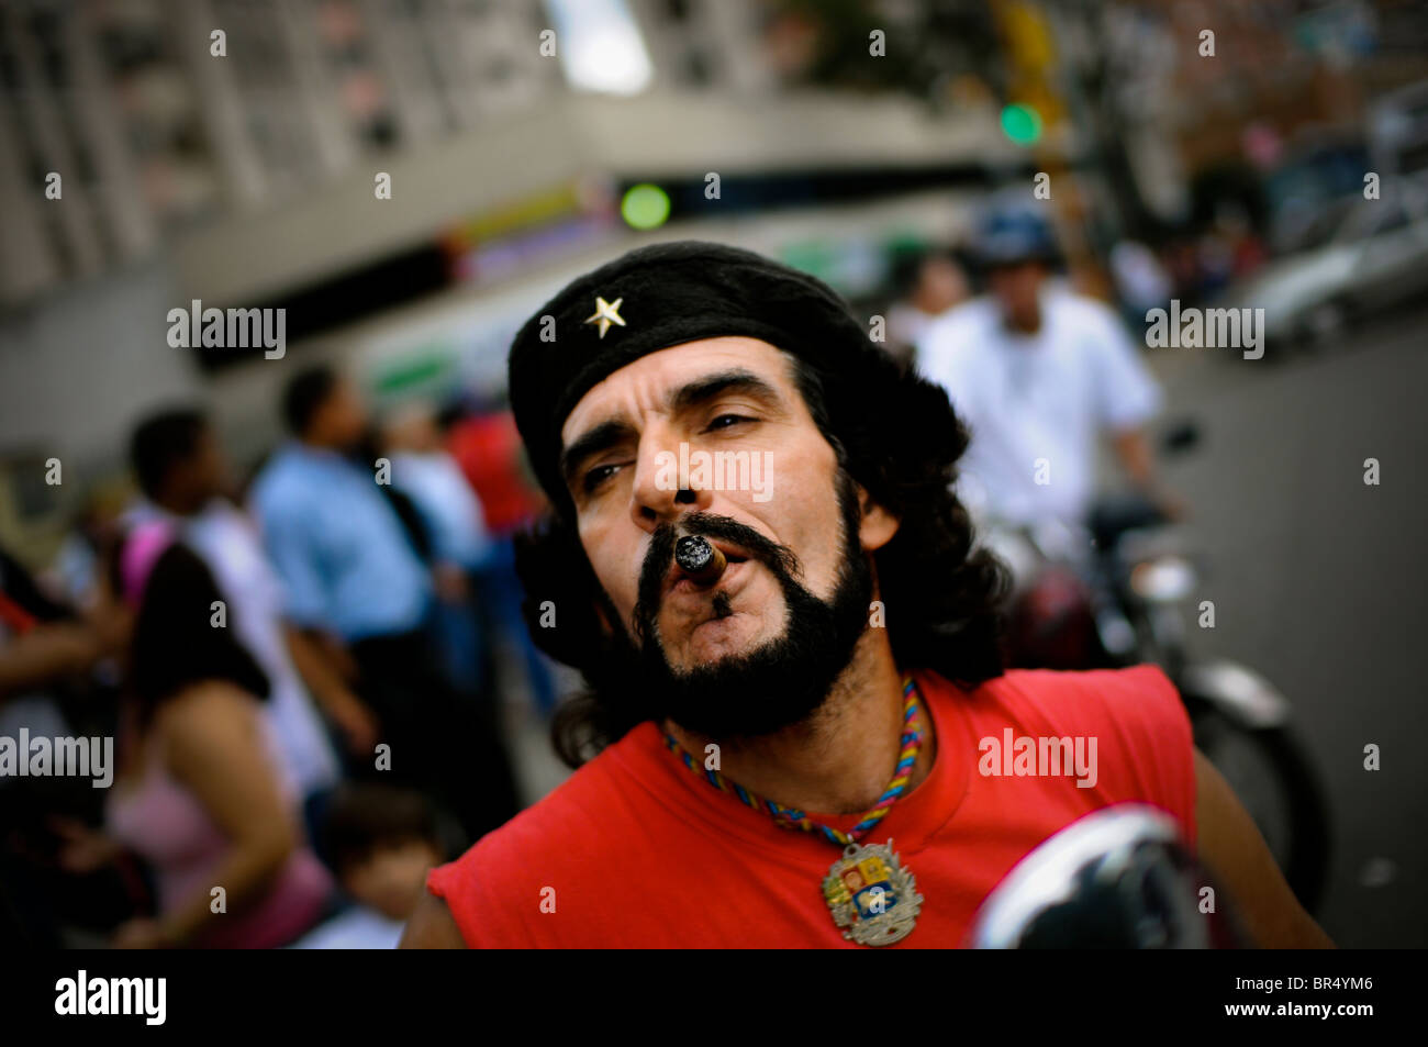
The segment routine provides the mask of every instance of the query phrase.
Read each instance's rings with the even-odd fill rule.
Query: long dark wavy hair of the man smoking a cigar
[[[901,521],[873,554],[897,664],[930,668],[961,686],[1000,676],[998,608],[1008,574],[985,548],[972,551],[971,520],[952,493],[955,463],[970,437],[947,393],[884,354],[857,374],[793,360],[798,390],[838,464]],[[648,706],[624,693],[624,663],[600,617],[614,608],[574,521],[557,510],[518,534],[516,568],[537,646],[585,680],[587,690],[567,700],[551,723],[557,754],[577,767],[648,718]],[[551,606],[557,627],[541,628]]]

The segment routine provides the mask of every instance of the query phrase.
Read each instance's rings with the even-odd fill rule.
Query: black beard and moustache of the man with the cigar
[[[634,608],[638,646],[624,630],[601,676],[601,690],[618,687],[625,700],[638,696],[645,718],[668,718],[687,731],[708,738],[737,740],[771,734],[808,720],[827,700],[834,681],[853,660],[868,627],[873,568],[858,541],[861,514],[851,477],[838,473],[838,509],[843,517],[843,560],[838,581],[827,601],[800,581],[798,558],[787,546],[765,538],[725,516],[688,513],[680,519],[685,534],[725,538],[748,551],[778,581],[787,607],[781,636],[760,647],[717,663],[675,670],[657,636],[663,581],[674,557],[680,531],[660,524],[640,571],[640,597]],[[717,617],[728,613],[727,597],[714,597]],[[618,621],[608,598],[607,614]]]

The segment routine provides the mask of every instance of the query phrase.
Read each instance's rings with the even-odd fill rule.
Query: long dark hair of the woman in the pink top
[[[110,583],[120,591],[123,550],[116,550]],[[233,636],[233,608],[224,626],[211,624],[214,601],[223,600],[208,567],[181,543],[166,548],[143,588],[129,643],[127,690],[147,726],[164,701],[190,684],[226,680],[256,698],[268,697],[267,674]]]

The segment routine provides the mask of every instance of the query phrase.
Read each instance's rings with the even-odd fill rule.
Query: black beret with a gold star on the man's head
[[[601,323],[597,299],[607,309]],[[541,340],[544,317],[554,317],[553,341]],[[570,503],[560,430],[593,386],[648,353],[723,336],[760,339],[830,376],[887,360],[838,293],[807,273],[701,240],[637,247],[570,281],[511,343],[511,410],[551,501]]]

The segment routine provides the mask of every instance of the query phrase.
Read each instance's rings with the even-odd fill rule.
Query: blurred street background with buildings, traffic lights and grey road
[[[7,3],[0,546],[63,590],[80,521],[133,497],[141,417],[203,404],[251,479],[314,363],[378,413],[498,413],[516,327],[641,243],[805,269],[915,366],[917,323],[981,289],[978,217],[1024,194],[1137,343],[1172,296],[1269,313],[1261,360],[1144,349],[1161,421],[1201,434],[1162,466],[1217,606],[1191,647],[1292,703],[1324,928],[1424,947],[1425,59],[1428,10],[1397,0]],[[968,280],[931,306],[930,254]],[[284,307],[283,359],[173,347],[194,301]],[[564,770],[518,644],[491,644],[531,803]]]

